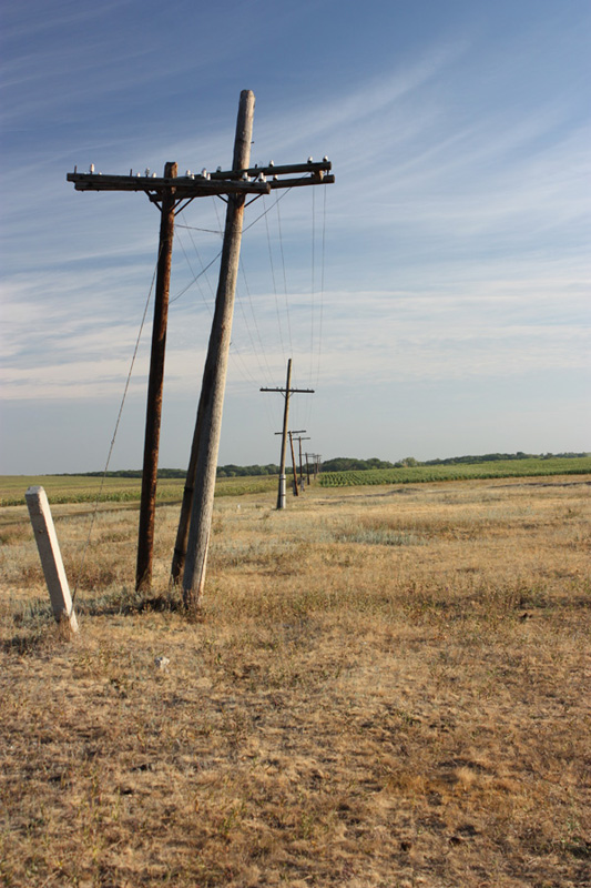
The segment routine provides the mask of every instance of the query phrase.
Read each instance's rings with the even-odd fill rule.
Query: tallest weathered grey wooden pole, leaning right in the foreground
[[[246,170],[248,168],[253,137],[254,103],[254,93],[251,90],[243,90],[236,122],[233,170]],[[217,451],[222,430],[222,411],[232,334],[232,316],[238,274],[244,202],[244,195],[228,194],[220,283],[203,373],[202,423],[198,433],[195,490],[183,575],[183,599],[190,610],[198,607],[205,583]]]

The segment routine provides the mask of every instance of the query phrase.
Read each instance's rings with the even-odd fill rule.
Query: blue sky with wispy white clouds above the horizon
[[[154,271],[126,173],[333,161],[246,211],[221,463],[591,450],[587,0],[21,0],[3,13],[0,472],[104,467]],[[273,205],[281,195],[277,205]],[[161,465],[185,467],[224,206],[177,218]],[[268,210],[266,215],[263,212]],[[111,468],[140,467],[150,319]]]

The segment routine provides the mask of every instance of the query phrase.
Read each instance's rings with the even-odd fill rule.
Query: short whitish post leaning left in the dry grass
[[[78,632],[78,620],[72,606],[68,578],[63,569],[60,545],[51,517],[48,496],[43,487],[29,487],[24,494],[34,538],[45,575],[53,616],[61,623],[67,620],[72,632]]]

